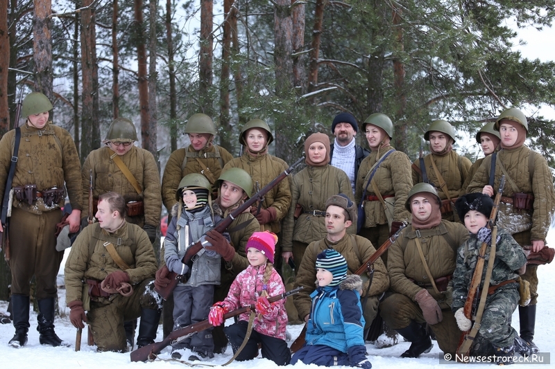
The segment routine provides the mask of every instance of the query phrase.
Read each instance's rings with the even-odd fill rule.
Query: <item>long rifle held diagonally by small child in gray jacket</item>
[[[264,186],[262,190],[259,190],[253,197],[250,197],[250,199],[248,199],[247,201],[244,202],[244,204],[242,204],[237,209],[232,211],[232,213],[230,213],[227,217],[225,217],[224,219],[221,219],[221,221],[214,226],[213,228],[214,231],[219,233],[225,232],[225,230],[228,228],[228,226],[230,226],[230,224],[233,222],[235,218],[239,217],[239,215],[243,213],[245,210],[249,209],[250,206],[253,206],[253,204],[255,204],[256,201],[262,201],[262,199],[264,199],[264,195],[266,195],[267,192],[269,192],[272,188],[277,186],[278,183],[280,183],[280,181],[282,181],[291,172],[293,172],[293,170],[298,165],[300,165],[300,163],[302,163],[303,161],[305,161],[304,157],[301,157],[300,159],[298,159],[298,161],[296,161],[293,165],[291,165],[289,168],[284,170],[282,174],[280,174],[278,177],[275,177],[273,181],[271,181],[266,186]],[[194,244],[187,247],[187,251],[185,251],[185,256],[183,256],[181,262],[183,264],[187,264],[191,260],[191,258],[193,258],[193,256],[196,255],[196,253],[198,253],[198,251],[200,251],[201,249],[203,249],[203,245],[200,244],[200,239],[199,239]],[[169,282],[169,284],[166,287],[164,287],[163,289],[155,288],[155,291],[160,296],[162,296],[164,300],[166,300],[169,294],[171,294],[171,291],[173,291],[173,289],[176,288],[176,285],[180,280],[182,280],[183,276],[180,276],[176,272],[170,271],[168,278],[171,280],[171,282]]]

